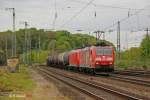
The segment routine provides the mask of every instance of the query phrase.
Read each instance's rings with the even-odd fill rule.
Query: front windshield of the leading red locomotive
[[[112,55],[112,49],[110,48],[97,48],[96,55]]]

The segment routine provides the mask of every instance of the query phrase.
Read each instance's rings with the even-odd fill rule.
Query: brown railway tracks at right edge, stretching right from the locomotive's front
[[[111,74],[110,76],[112,79],[115,79],[115,80],[130,82],[130,83],[144,85],[144,86],[150,86],[150,71],[115,70],[115,72],[113,74]],[[144,78],[146,78],[146,79],[144,79]]]

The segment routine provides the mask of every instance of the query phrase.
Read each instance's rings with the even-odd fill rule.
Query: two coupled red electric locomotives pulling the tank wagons
[[[92,46],[71,51],[69,54],[69,66],[78,70],[90,69],[95,71],[114,70],[114,49],[111,46]]]

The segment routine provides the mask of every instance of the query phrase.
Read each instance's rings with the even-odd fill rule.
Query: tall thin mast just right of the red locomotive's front
[[[117,58],[120,60],[120,21],[118,21],[117,27]]]

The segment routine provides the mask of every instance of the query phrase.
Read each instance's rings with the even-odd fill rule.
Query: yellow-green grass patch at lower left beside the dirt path
[[[35,87],[27,66],[20,65],[19,72],[9,73],[5,69],[0,69],[0,92],[21,92],[29,93]],[[1,100],[1,97],[0,97]],[[3,100],[7,100],[6,98]],[[20,100],[20,99],[8,99]]]

